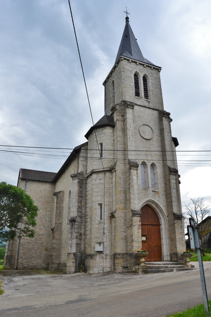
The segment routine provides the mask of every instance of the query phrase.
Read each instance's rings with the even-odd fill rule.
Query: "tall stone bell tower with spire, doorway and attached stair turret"
[[[178,141],[164,110],[160,71],[143,56],[127,16],[115,64],[103,82],[105,115],[86,134],[89,272],[139,270],[141,248],[149,253],[146,262],[183,262]],[[103,169],[92,159],[95,133]],[[103,252],[94,249],[96,243],[103,243]]]

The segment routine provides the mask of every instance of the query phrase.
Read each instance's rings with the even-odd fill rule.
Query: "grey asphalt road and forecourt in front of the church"
[[[204,267],[211,298],[211,262],[204,262]],[[0,316],[7,317],[156,317],[203,301],[198,269],[162,274],[4,274]]]

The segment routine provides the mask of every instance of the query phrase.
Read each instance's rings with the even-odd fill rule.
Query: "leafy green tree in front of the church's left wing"
[[[21,188],[6,182],[0,183],[0,241],[14,240],[21,236],[34,237],[38,207]]]

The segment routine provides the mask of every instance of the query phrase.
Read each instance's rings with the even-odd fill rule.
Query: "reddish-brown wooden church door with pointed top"
[[[162,261],[160,221],[147,204],[141,208],[141,241],[142,248],[149,252],[145,262]]]

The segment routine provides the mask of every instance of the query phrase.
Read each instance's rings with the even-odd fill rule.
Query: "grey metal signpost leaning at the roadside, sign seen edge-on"
[[[192,250],[197,251],[201,283],[202,283],[202,293],[204,298],[204,308],[205,308],[206,315],[209,316],[209,304],[208,304],[207,288],[206,288],[205,277],[204,277],[204,268],[203,268],[203,262],[202,262],[202,251],[201,251],[201,241],[199,237],[199,231],[198,231],[198,227],[195,225],[195,221],[192,218],[189,218],[189,223],[190,225],[187,226],[189,247]]]

